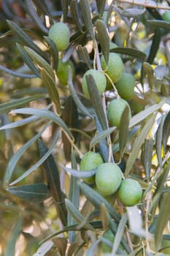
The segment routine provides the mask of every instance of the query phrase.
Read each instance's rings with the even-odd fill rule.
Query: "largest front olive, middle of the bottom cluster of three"
[[[120,187],[122,171],[116,164],[105,162],[96,171],[96,187],[103,195],[112,195]]]

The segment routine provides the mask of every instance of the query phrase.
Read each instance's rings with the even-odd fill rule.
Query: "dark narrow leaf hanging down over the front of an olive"
[[[92,75],[86,75],[86,80],[91,103],[98,117],[98,121],[100,122],[102,129],[107,129],[107,120],[104,114],[104,108],[101,103],[101,96],[98,93],[96,82]]]

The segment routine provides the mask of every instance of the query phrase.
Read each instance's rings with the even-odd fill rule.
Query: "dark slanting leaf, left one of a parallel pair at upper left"
[[[18,48],[18,50],[20,52],[20,56],[23,58],[23,61],[25,62],[25,64],[29,67],[29,69],[31,69],[32,72],[34,72],[34,74],[38,78],[41,78],[39,70],[34,65],[33,61],[30,58],[30,56],[28,56],[28,53],[26,53],[26,50],[24,50],[23,47],[20,44],[18,44],[18,42],[16,43],[16,45],[17,45],[17,48]]]

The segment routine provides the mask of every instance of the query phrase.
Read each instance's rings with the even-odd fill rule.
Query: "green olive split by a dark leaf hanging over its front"
[[[107,86],[107,79],[105,78],[105,75],[96,69],[89,69],[82,77],[82,91],[84,92],[85,96],[90,99],[90,95],[88,93],[88,85],[85,78],[86,75],[93,75],[99,94],[103,94]]]

